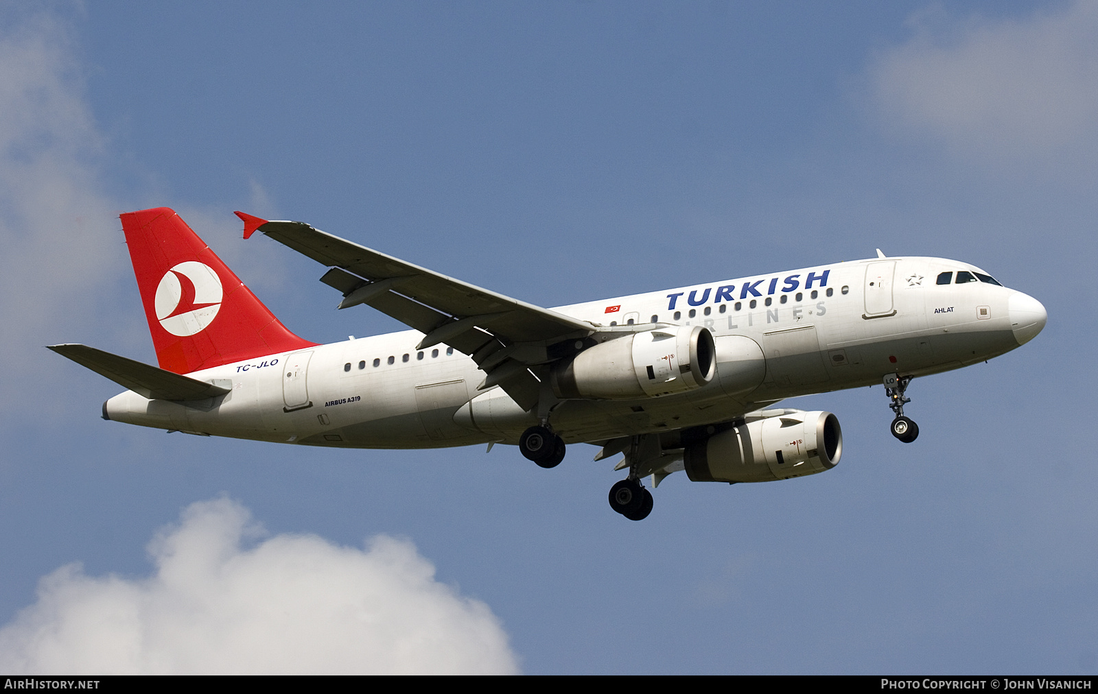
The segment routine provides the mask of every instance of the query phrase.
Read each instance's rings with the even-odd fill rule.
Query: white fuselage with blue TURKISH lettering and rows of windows
[[[982,272],[955,260],[877,258],[560,306],[596,325],[705,326],[718,366],[710,383],[682,394],[561,401],[551,424],[574,443],[725,422],[785,398],[879,383],[887,373],[956,369],[1040,331],[1031,327],[1034,300],[986,281],[937,284],[946,271]],[[197,371],[189,376],[232,391],[187,404],[127,391],[104,404],[104,416],[352,448],[516,443],[536,423],[501,389],[478,391],[484,373],[469,357],[445,345],[416,350],[422,337],[405,331]]]

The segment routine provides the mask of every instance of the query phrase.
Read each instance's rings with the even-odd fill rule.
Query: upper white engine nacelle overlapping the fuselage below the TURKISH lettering
[[[632,333],[590,347],[550,374],[558,398],[635,400],[701,388],[717,372],[713,334],[699,325]]]

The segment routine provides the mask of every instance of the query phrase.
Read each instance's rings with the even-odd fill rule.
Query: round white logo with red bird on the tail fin
[[[156,288],[156,317],[172,335],[201,333],[217,316],[223,294],[213,268],[195,260],[180,262],[164,273]]]

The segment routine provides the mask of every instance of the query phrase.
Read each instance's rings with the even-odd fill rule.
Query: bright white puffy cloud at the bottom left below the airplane
[[[435,580],[404,540],[365,550],[261,531],[219,499],[149,545],[154,575],[42,579],[0,629],[10,673],[514,673],[488,605]]]

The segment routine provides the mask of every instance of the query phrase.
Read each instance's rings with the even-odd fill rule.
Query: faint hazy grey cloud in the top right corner
[[[872,68],[877,103],[954,147],[1043,156],[1095,144],[1098,2],[1021,20],[912,19],[915,36]]]

